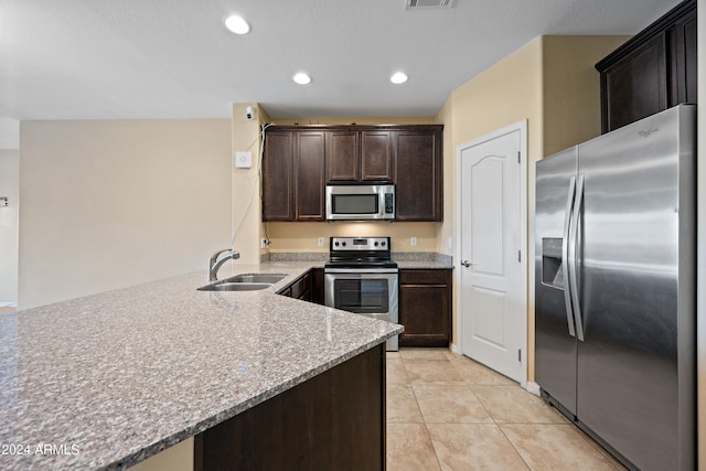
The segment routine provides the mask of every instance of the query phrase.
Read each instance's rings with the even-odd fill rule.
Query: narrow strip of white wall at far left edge
[[[18,302],[18,240],[20,152],[0,150],[0,196],[8,206],[0,207],[0,307]]]

